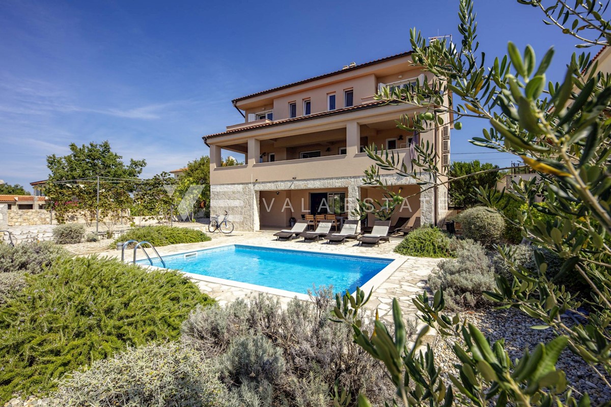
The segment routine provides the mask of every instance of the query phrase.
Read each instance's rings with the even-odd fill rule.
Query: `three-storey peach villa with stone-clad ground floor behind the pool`
[[[445,169],[450,125],[420,135],[402,131],[395,120],[423,110],[373,98],[381,87],[407,86],[428,76],[412,64],[411,52],[403,52],[234,99],[244,123],[203,137],[210,146],[211,214],[227,211],[236,228],[246,231],[284,227],[291,217],[305,214],[353,218],[357,200],[382,200],[380,189],[362,182],[374,164],[364,153],[371,144],[398,154],[411,171],[410,146],[429,142]],[[442,118],[452,123],[447,114]],[[246,164],[221,167],[221,149],[244,154]],[[420,216],[423,225],[443,224],[448,204],[444,185],[420,193],[415,179],[380,173],[402,196],[415,195],[393,214],[393,222]],[[370,214],[368,223],[373,220]]]

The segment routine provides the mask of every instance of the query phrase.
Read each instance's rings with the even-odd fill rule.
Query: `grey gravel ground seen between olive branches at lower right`
[[[477,326],[492,342],[504,337],[505,350],[508,351],[511,360],[521,358],[525,347],[529,347],[532,351],[539,342],[549,342],[555,337],[552,330],[533,330],[530,328],[530,326],[540,325],[541,323],[516,309],[462,312],[460,316]],[[457,375],[453,364],[458,359],[456,359],[450,344],[439,335],[435,340],[434,351],[444,372],[452,372]],[[593,405],[611,400],[611,389],[606,386],[602,378],[582,358],[574,355],[568,348],[560,355],[556,366],[558,369],[564,370],[569,385],[573,386],[574,392],[579,392],[579,394],[588,392]],[[607,380],[610,380],[608,376]]]

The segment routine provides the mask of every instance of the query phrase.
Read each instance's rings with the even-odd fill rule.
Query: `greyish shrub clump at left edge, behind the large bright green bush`
[[[68,252],[51,242],[0,245],[0,304],[26,286],[24,276],[38,274]]]

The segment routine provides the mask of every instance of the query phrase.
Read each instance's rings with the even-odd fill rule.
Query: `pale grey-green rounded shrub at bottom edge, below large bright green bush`
[[[212,406],[224,387],[202,355],[174,342],[128,348],[60,382],[62,406]]]

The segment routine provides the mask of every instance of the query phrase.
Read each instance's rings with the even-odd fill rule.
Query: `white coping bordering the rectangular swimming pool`
[[[170,253],[165,253],[163,256],[167,257],[167,256],[175,256],[176,254],[195,253],[195,252],[201,251],[201,250],[211,250],[211,249],[216,249],[216,248],[221,248],[221,247],[229,247],[229,246],[241,246],[241,247],[251,247],[251,248],[265,248],[265,249],[271,249],[271,250],[285,250],[285,251],[296,251],[296,252],[302,251],[302,252],[305,252],[305,253],[311,253],[311,251],[296,250],[296,249],[293,249],[293,248],[277,248],[277,247],[271,247],[271,246],[249,245],[249,244],[243,244],[243,243],[219,243],[218,245],[212,245],[212,246],[204,247],[204,248],[197,249],[197,250],[187,250],[187,251],[185,251],[185,250],[176,250],[176,251],[171,251]],[[370,279],[368,279],[365,282],[365,284],[363,284],[360,287],[360,289],[363,290],[365,293],[368,293],[368,292],[371,292],[371,291],[375,290],[380,284],[384,283],[384,281],[386,281],[392,275],[392,273],[397,271],[397,269],[399,267],[401,267],[401,265],[406,260],[404,258],[399,258],[399,257],[395,257],[395,256],[389,256],[389,257],[386,257],[386,258],[382,258],[380,256],[367,256],[367,255],[360,255],[360,254],[328,253],[328,252],[326,252],[324,250],[315,250],[315,251],[316,251],[316,253],[327,254],[329,256],[346,256],[346,257],[353,257],[353,258],[368,258],[368,259],[378,259],[378,260],[379,259],[392,260],[390,262],[390,264],[388,264],[388,265],[386,265],[386,267],[382,268],[382,270],[380,270],[378,273],[376,273],[374,276],[372,276]],[[136,261],[145,260],[145,259],[146,259],[146,257],[143,256],[141,259],[137,259]],[[169,268],[157,267],[157,266],[150,265],[150,264],[136,264],[136,265],[139,265],[140,267],[152,268],[152,269],[155,269],[155,270],[175,270],[174,268],[169,269]],[[277,289],[277,288],[273,288],[273,287],[259,286],[257,284],[251,284],[251,283],[242,283],[241,281],[234,281],[234,280],[225,279],[225,278],[218,278],[218,277],[206,276],[206,275],[201,275],[201,274],[196,274],[196,273],[183,272],[182,270],[178,270],[178,272],[183,273],[183,275],[185,275],[189,279],[192,279],[192,280],[195,280],[195,281],[202,281],[203,283],[222,284],[224,286],[237,287],[237,288],[251,290],[251,291],[255,291],[255,292],[262,292],[262,293],[265,293],[265,294],[277,295],[279,297],[298,298],[299,300],[304,300],[304,301],[310,300],[310,296],[308,294],[302,294],[302,293],[299,293],[299,292],[282,290],[282,289]],[[351,294],[354,295],[354,292],[352,292]]]

